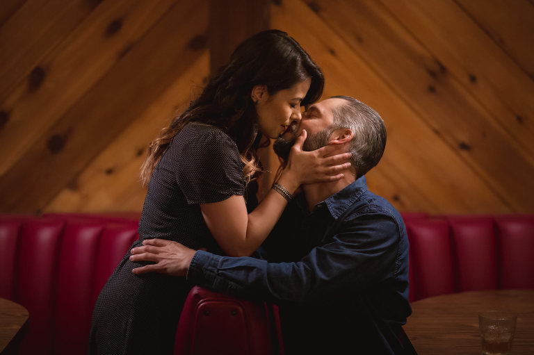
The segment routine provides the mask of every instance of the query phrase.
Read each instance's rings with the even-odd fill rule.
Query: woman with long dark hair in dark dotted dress
[[[242,42],[200,97],[149,146],[141,168],[148,191],[133,247],[163,238],[217,254],[252,254],[299,185],[339,179],[337,172],[350,164],[346,154],[332,155],[333,147],[302,151],[304,132],[261,203],[250,211],[243,197],[261,171],[261,134],[277,138],[300,120],[300,106],[316,101],[323,84],[321,70],[286,33],[264,31]],[[90,353],[172,354],[191,286],[163,274],[134,275],[140,264],[129,256],[97,299]]]

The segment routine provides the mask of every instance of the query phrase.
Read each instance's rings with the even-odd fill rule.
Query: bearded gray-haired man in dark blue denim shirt
[[[168,240],[145,240],[131,261],[152,261],[135,274],[163,272],[234,297],[280,307],[285,354],[415,354],[402,325],[408,302],[408,240],[398,211],[367,189],[364,174],[385,149],[382,118],[352,97],[307,107],[275,143],[287,159],[303,149],[350,151],[343,178],[302,185],[254,257],[231,258]],[[287,164],[291,164],[291,160]]]

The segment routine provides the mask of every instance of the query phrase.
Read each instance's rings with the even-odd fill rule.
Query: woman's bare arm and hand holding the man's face
[[[341,179],[339,171],[346,169],[350,154],[332,156],[337,147],[327,146],[316,151],[302,151],[306,131],[291,149],[288,167],[278,183],[293,195],[302,183],[316,183]],[[247,213],[245,199],[234,195],[224,201],[200,204],[204,221],[218,245],[228,256],[250,256],[267,238],[286,207],[287,200],[270,190],[251,213]]]

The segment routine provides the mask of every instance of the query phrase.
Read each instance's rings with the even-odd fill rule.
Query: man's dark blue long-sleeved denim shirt
[[[302,208],[305,200],[299,197],[256,257],[197,251],[187,279],[235,297],[280,304],[282,327],[305,329],[292,338],[307,336],[307,343],[314,343],[314,337],[323,337],[332,345],[332,337],[343,342],[339,333],[348,332],[353,344],[358,332],[358,341],[368,341],[375,354],[395,353],[394,345],[388,345],[391,334],[411,313],[408,240],[401,215],[367,190],[363,176],[317,204],[312,213]],[[350,320],[353,326],[341,327]],[[376,347],[380,342],[383,351]],[[366,347],[360,344],[359,349]],[[302,342],[296,346],[303,350]]]

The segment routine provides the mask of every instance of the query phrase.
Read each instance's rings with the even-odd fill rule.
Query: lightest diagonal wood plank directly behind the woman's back
[[[124,129],[86,169],[54,197],[43,212],[140,211],[146,190],[139,168],[149,142],[168,124],[176,110],[184,110],[195,97],[195,88],[209,75],[207,50],[161,97]]]

